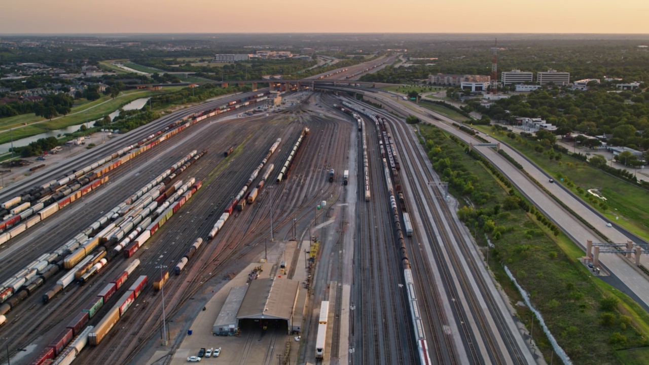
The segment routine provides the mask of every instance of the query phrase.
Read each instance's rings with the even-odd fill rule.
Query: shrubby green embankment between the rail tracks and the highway
[[[649,345],[649,315],[594,277],[578,260],[583,255],[579,247],[561,233],[552,234],[532,214],[533,208],[523,210],[530,207],[529,202],[523,199],[512,205],[522,199],[520,194],[511,190],[517,197],[510,197],[504,183],[465,153],[464,145],[435,127],[420,128],[424,138],[432,141],[426,148],[435,168],[443,171],[449,191],[466,206],[460,209],[466,213],[460,217],[468,222],[481,247],[486,247],[485,234],[495,245],[489,250],[488,264],[496,279],[513,304],[521,301],[502,265],[508,266],[573,363],[618,364],[618,358],[627,356],[624,349]],[[532,312],[524,306],[513,307],[531,329]],[[549,363],[556,355],[536,322],[533,337]],[[648,363],[643,361],[637,363]]]

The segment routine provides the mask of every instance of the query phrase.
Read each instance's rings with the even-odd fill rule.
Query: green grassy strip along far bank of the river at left
[[[184,86],[169,86],[163,88],[161,91],[151,92],[151,95],[167,94],[170,92],[175,92],[177,90],[180,90],[183,87]],[[110,100],[107,103],[98,105],[97,107],[93,107],[90,110],[88,110],[88,121],[93,121],[99,118],[103,118],[104,116],[130,103],[130,101],[133,101],[135,99],[140,99],[141,97],[148,97],[148,96],[149,96],[148,90],[147,91],[132,90],[132,92],[129,93],[128,96]],[[12,118],[16,118],[16,117],[12,117]],[[3,132],[0,132],[0,143],[9,142],[10,140],[12,140],[12,138],[15,141],[15,140],[19,140],[20,138],[35,136],[36,134],[41,134],[43,132],[52,131],[55,129],[62,129],[70,125],[79,125],[84,123],[84,121],[86,121],[86,113],[79,113],[79,114],[68,115],[62,118],[57,118],[51,121],[45,120],[37,123],[32,123],[29,125],[25,125],[24,127],[14,129],[13,131],[7,131],[8,128],[5,128]]]

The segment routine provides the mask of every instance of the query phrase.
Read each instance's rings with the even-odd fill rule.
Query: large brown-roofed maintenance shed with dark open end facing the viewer
[[[253,280],[237,313],[239,327],[267,329],[273,326],[289,333],[293,327],[299,285],[299,281],[283,278]]]

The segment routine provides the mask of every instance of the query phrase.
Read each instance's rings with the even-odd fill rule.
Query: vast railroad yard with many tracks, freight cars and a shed
[[[282,105],[186,108],[2,191],[12,364],[532,361],[413,130],[275,86]]]

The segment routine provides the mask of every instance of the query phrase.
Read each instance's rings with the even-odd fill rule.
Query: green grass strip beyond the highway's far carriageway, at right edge
[[[643,188],[612,177],[603,171],[584,164],[581,160],[567,155],[563,155],[560,161],[561,164],[554,160],[550,161],[548,157],[533,149],[533,142],[527,141],[524,138],[511,140],[502,131],[493,134],[493,131],[487,126],[474,127],[488,132],[498,140],[507,142],[550,175],[556,177],[561,173],[565,177],[568,177],[575,186],[572,188],[567,185],[565,186],[576,195],[580,195],[576,189],[577,186],[580,186],[583,190],[592,188],[600,189],[601,195],[606,197],[607,209],[603,210],[598,205],[591,205],[606,215],[610,220],[616,221],[616,223],[644,238],[644,240],[649,240],[649,194]],[[555,181],[556,183],[561,183],[559,179]],[[584,196],[580,195],[582,198]],[[587,199],[584,200],[588,202]],[[616,220],[616,217],[619,219]],[[606,229],[605,227],[597,228],[601,228],[602,230]],[[606,231],[604,233],[606,234]]]

